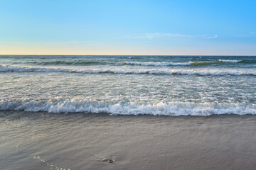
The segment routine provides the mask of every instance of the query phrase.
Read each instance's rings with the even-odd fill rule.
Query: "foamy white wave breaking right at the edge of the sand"
[[[44,111],[48,113],[109,113],[111,115],[221,115],[256,114],[256,106],[235,103],[107,103],[85,101],[78,98],[64,100],[53,98],[48,101],[4,101],[0,100],[1,111]]]

